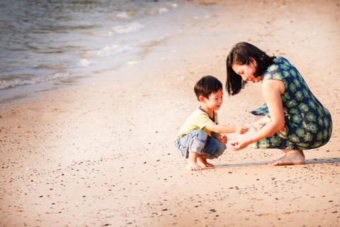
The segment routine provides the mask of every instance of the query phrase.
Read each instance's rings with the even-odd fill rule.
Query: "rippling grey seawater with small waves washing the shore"
[[[181,33],[181,0],[1,0],[0,89],[133,64],[135,52]],[[166,25],[166,26],[164,26]]]

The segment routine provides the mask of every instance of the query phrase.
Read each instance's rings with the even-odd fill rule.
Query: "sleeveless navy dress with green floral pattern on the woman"
[[[285,132],[279,131],[255,142],[254,148],[309,150],[325,145],[331,138],[331,114],[310,92],[296,68],[278,56],[264,72],[262,82],[267,79],[278,79],[285,84],[281,95]],[[267,104],[250,113],[270,118]]]

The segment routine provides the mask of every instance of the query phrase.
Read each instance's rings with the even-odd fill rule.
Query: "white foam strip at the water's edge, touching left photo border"
[[[39,84],[42,82],[48,82],[55,79],[63,79],[67,77],[69,77],[68,72],[57,72],[55,74],[50,74],[45,77],[34,77],[31,79],[11,79],[9,81],[5,80],[0,82],[0,90],[29,84]]]

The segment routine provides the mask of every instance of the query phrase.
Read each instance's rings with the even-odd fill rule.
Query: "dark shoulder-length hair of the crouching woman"
[[[255,60],[254,65],[256,70],[254,72],[254,77],[261,76],[264,70],[266,70],[275,59],[275,56],[268,56],[266,52],[263,52],[250,43],[240,42],[235,44],[227,56],[227,82],[225,87],[229,95],[239,94],[246,84],[242,77],[232,70],[232,64],[249,65],[249,62],[251,61],[250,57]]]

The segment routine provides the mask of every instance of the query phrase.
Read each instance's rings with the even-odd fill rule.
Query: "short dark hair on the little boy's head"
[[[216,77],[212,76],[200,78],[193,88],[198,101],[200,101],[200,96],[209,99],[212,93],[217,93],[220,89],[223,89],[222,83]]]

